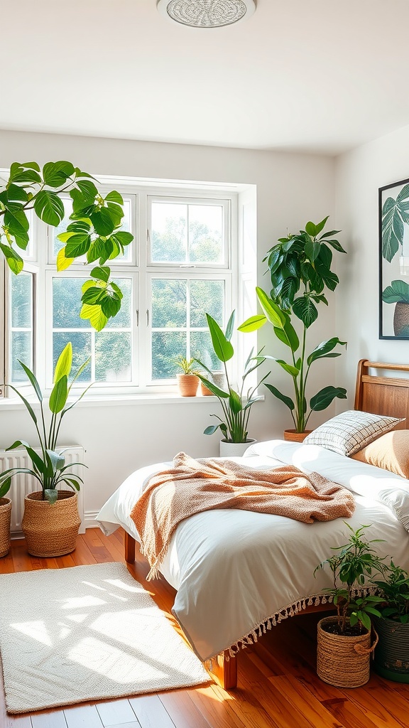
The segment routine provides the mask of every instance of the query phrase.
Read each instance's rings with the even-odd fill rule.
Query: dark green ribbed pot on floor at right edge
[[[379,642],[373,668],[378,675],[394,682],[409,683],[409,623],[387,618],[376,619]]]

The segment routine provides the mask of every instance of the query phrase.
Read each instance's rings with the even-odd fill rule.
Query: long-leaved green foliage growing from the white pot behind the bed
[[[229,322],[226,326],[226,332],[223,333],[221,327],[214,320],[210,314],[206,314],[207,325],[210,331],[210,337],[212,339],[213,351],[215,352],[218,360],[223,364],[225,376],[226,376],[226,390],[218,387],[213,381],[213,374],[209,368],[199,359],[196,362],[207,371],[210,375],[210,379],[207,379],[202,373],[197,372],[197,376],[201,379],[206,387],[213,392],[213,395],[218,397],[221,403],[222,416],[210,415],[219,420],[218,424],[211,424],[204,430],[204,435],[213,435],[216,430],[221,430],[223,439],[229,443],[245,443],[247,442],[247,427],[250,417],[250,409],[255,402],[261,400],[262,397],[255,394],[261,382],[263,382],[269,376],[263,376],[263,379],[250,387],[248,391],[245,390],[245,381],[247,376],[255,371],[261,364],[266,361],[266,357],[262,355],[262,349],[253,356],[254,349],[251,350],[245,363],[245,370],[242,374],[242,382],[237,392],[231,387],[229,379],[229,371],[227,368],[227,362],[229,362],[234,356],[233,344],[231,344],[231,335],[234,329],[234,317],[235,311],[231,314]]]

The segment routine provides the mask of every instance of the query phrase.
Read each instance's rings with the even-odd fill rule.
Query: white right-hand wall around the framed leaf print
[[[409,126],[336,160],[336,219],[349,250],[338,266],[336,330],[348,340],[338,386],[352,394],[358,360],[408,363],[409,342],[378,338],[378,188],[409,176]]]

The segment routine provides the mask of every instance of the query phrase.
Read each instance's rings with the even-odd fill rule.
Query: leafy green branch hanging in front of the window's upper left
[[[65,216],[63,199],[71,197],[73,212],[65,232],[57,235],[64,243],[57,255],[57,270],[63,271],[85,257],[98,261],[90,280],[82,288],[81,317],[100,331],[121,308],[122,291],[110,280],[107,261],[124,253],[133,236],[122,230],[124,201],[119,192],[103,197],[97,180],[71,162],[13,162],[5,185],[0,184],[0,251],[16,275],[23,270],[19,250],[29,241],[28,211],[57,227]]]

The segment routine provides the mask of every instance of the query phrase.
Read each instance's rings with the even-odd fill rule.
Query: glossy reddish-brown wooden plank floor
[[[136,558],[130,571],[168,612],[174,591],[164,580],[145,582],[146,562],[138,554]],[[75,552],[60,558],[33,558],[23,540],[12,542],[9,555],[0,559],[0,572],[101,561],[124,561],[121,531],[106,538],[89,529],[79,536]],[[409,685],[373,675],[365,687],[341,690],[317,678],[319,616],[285,620],[242,652],[234,692],[210,683],[13,718],[7,716],[0,690],[0,728],[409,728]]]

